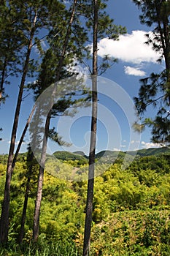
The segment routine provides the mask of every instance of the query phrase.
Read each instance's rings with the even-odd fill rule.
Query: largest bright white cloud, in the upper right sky
[[[104,38],[98,42],[98,55],[109,55],[122,61],[141,64],[142,62],[156,63],[159,54],[152,50],[151,45],[146,45],[145,34],[147,31],[132,31],[131,34],[121,35],[118,41]],[[151,33],[151,32],[150,32]]]

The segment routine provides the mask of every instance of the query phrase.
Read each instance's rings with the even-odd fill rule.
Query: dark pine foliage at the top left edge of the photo
[[[7,94],[5,85],[9,84],[8,78],[17,75],[20,64],[20,50],[22,48],[22,35],[18,31],[17,13],[6,1],[0,3],[0,103],[4,102]]]

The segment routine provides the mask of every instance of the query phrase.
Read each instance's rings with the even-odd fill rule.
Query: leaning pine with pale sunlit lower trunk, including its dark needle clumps
[[[50,46],[51,48],[47,51],[47,59],[45,60],[45,65],[42,65],[42,72],[39,74],[39,86],[36,85],[36,94],[41,93],[46,86],[51,86],[51,83],[54,83],[61,78],[66,78],[72,75],[72,72],[66,70],[66,65],[72,64],[72,61],[75,57],[81,58],[82,49],[77,48],[77,37],[81,37],[82,45],[86,39],[85,33],[81,26],[79,26],[79,22],[75,17],[75,11],[77,7],[77,0],[73,1],[71,6],[71,12],[68,20],[68,24],[66,24],[66,29],[64,28],[62,31],[51,31],[50,37]],[[77,37],[74,35],[74,26],[76,27]],[[56,34],[55,34],[56,33]],[[55,37],[55,41],[54,35]],[[57,36],[56,36],[57,35]],[[58,59],[58,64],[56,64],[56,59]],[[50,74],[49,74],[50,70]],[[66,88],[65,88],[66,90]],[[56,91],[56,86],[52,91],[51,95],[59,94],[59,91]],[[84,94],[82,90],[82,95]],[[51,96],[50,95],[50,96]],[[43,178],[45,171],[45,160],[46,160],[46,152],[47,152],[47,140],[48,138],[55,138],[59,141],[58,133],[54,130],[50,130],[50,119],[53,116],[62,115],[65,110],[69,109],[72,105],[75,105],[77,99],[72,99],[72,95],[74,93],[61,97],[57,103],[53,102],[53,97],[50,97],[50,111],[47,114],[45,121],[45,132],[42,141],[42,151],[40,157],[40,165],[39,165],[39,179],[37,186],[37,194],[36,194],[36,206],[34,211],[34,228],[33,228],[33,239],[37,241],[39,236],[39,216],[40,216],[40,208],[41,208],[41,200],[42,200],[42,186],[43,186]],[[84,98],[84,99],[83,99]],[[81,101],[81,99],[78,99]],[[82,96],[82,101],[85,100],[85,97]],[[48,99],[49,101],[49,99]],[[45,102],[44,102],[45,103]],[[55,104],[54,104],[55,103]],[[51,132],[52,131],[52,132]]]

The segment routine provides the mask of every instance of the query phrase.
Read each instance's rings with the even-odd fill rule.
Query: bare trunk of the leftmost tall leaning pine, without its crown
[[[25,61],[25,65],[23,67],[23,76],[22,76],[21,82],[20,82],[18,102],[17,102],[17,107],[16,107],[16,110],[15,110],[15,118],[14,118],[14,123],[13,123],[13,127],[12,127],[11,142],[10,142],[10,147],[9,147],[8,161],[7,161],[6,182],[5,182],[5,187],[4,187],[4,200],[3,200],[3,204],[2,204],[2,210],[1,210],[0,243],[7,243],[7,241],[8,241],[9,200],[10,200],[10,185],[11,185],[11,179],[12,179],[12,159],[13,159],[13,154],[14,154],[14,150],[15,150],[15,140],[16,140],[16,134],[17,134],[17,129],[18,129],[18,119],[19,119],[19,115],[20,115],[20,106],[21,106],[22,97],[23,97],[24,83],[25,83],[25,80],[26,80],[27,72],[28,72],[28,63],[29,63],[29,58],[30,58],[30,54],[31,54],[31,47],[32,47],[32,40],[33,40],[33,37],[34,37],[35,24],[36,24],[36,14],[35,14],[35,17],[34,17],[34,24],[33,24],[33,27],[31,29],[30,39],[29,39],[29,42],[28,42],[26,61]]]

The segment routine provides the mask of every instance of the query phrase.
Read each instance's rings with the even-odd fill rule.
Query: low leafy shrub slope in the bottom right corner
[[[123,211],[92,229],[92,255],[169,255],[169,211]]]

